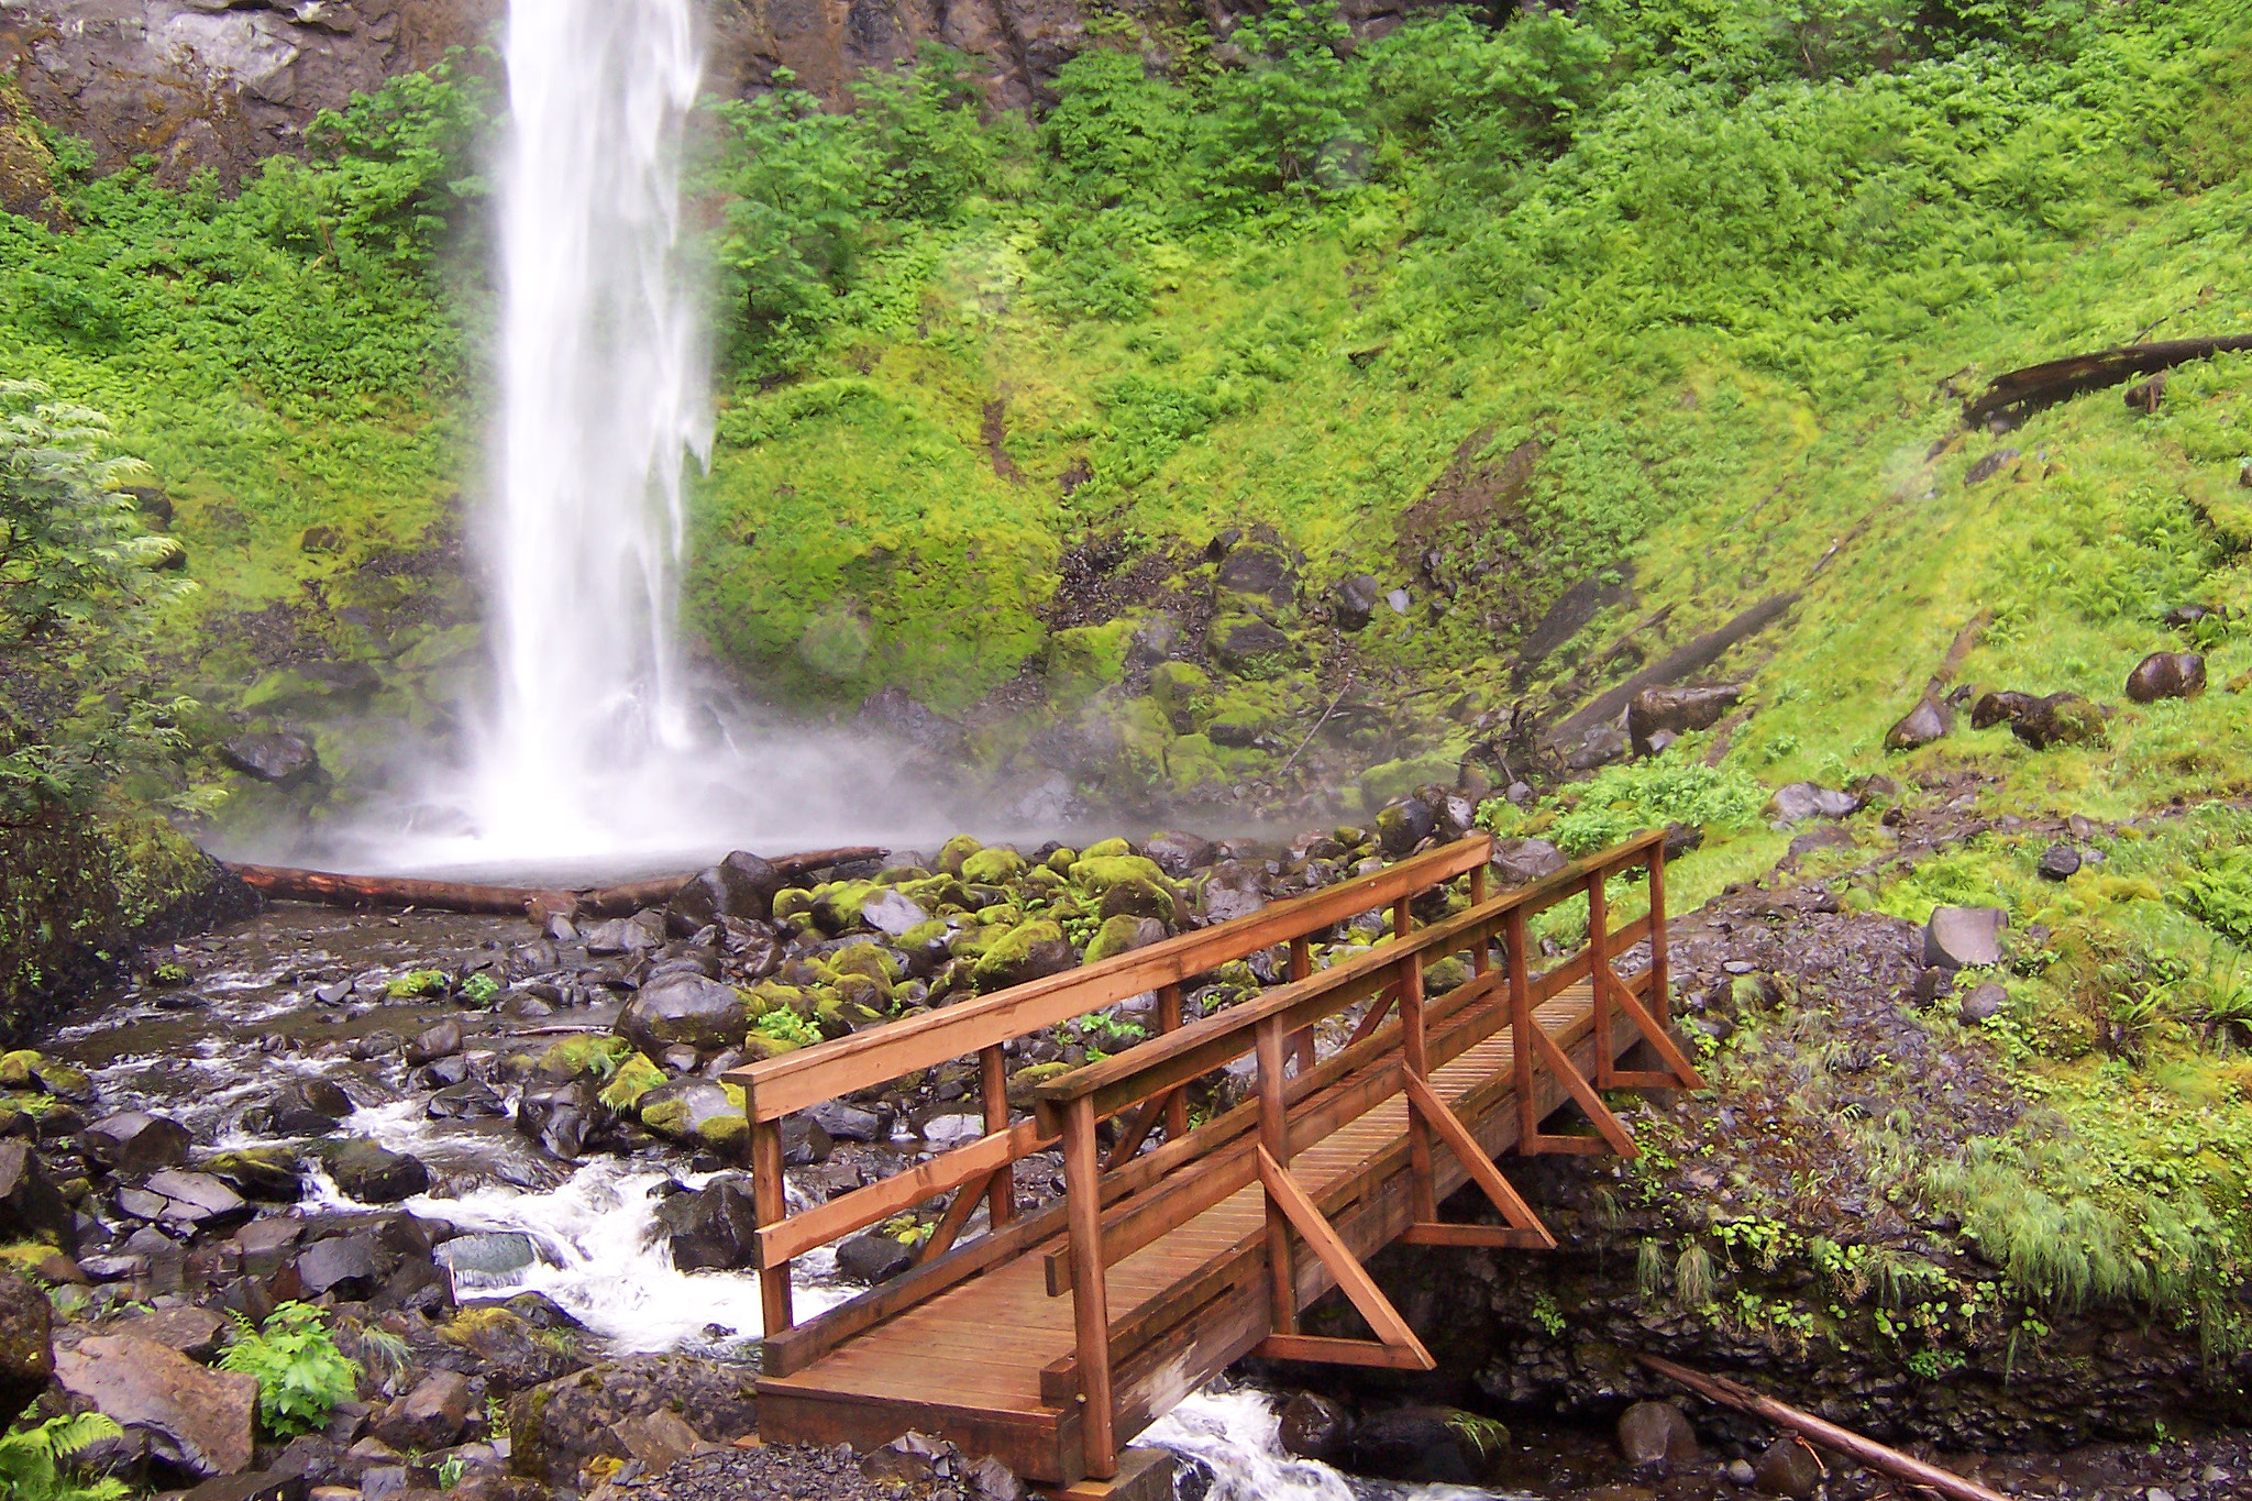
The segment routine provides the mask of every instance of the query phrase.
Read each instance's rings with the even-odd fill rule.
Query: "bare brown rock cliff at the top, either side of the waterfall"
[[[1155,0],[1144,27],[1205,20],[1225,34],[1241,0]],[[1403,0],[1344,0],[1376,34]],[[158,160],[167,182],[212,169],[227,191],[261,158],[297,151],[315,110],[498,45],[507,0],[9,0],[0,65],[50,124],[92,142],[101,167]],[[831,104],[865,68],[926,41],[982,59],[995,108],[1054,99],[1085,38],[1085,0],[709,0],[707,83],[748,95],[788,68]]]

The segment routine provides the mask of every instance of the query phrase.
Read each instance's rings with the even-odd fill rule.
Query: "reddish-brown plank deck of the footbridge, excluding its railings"
[[[1585,981],[1538,1008],[1543,1028],[1570,1033],[1592,1013]],[[1432,1087],[1464,1107],[1473,1091],[1489,1098],[1475,1109],[1473,1130],[1516,1109],[1516,1094],[1493,1098],[1516,1053],[1507,1028],[1450,1060]],[[1401,1152],[1407,1136],[1405,1096],[1392,1096],[1306,1148],[1290,1161],[1293,1177],[1315,1199],[1378,1188],[1374,1172]],[[1441,1154],[1439,1188],[1464,1181],[1464,1170]],[[1257,1186],[1221,1199],[1173,1233],[1146,1244],[1108,1271],[1110,1321],[1117,1328],[1137,1310],[1182,1287],[1216,1258],[1234,1251],[1266,1222]],[[885,1323],[849,1339],[804,1370],[759,1382],[761,1429],[770,1442],[881,1445],[908,1427],[939,1427],[957,1440],[1009,1429],[1016,1467],[1034,1481],[1076,1478],[1079,1424],[1070,1409],[1040,1400],[1040,1370],[1076,1348],[1072,1298],[1047,1296],[1045,1253],[1063,1238],[1027,1251],[982,1276],[948,1287]],[[1013,1427],[1011,1427],[1013,1424]],[[1027,1431],[1025,1424],[1029,1424]],[[1128,1438],[1128,1433],[1119,1433]]]

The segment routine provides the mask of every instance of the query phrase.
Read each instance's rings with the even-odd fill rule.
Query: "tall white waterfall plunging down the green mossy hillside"
[[[673,617],[709,403],[680,153],[703,50],[691,0],[518,0],[504,50],[495,691],[468,812],[489,853],[586,853],[633,817],[601,790],[689,745]]]

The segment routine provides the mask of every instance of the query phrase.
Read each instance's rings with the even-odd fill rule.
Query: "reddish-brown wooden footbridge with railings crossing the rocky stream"
[[[750,1103],[770,1442],[881,1445],[908,1429],[995,1454],[1029,1481],[1112,1476],[1119,1447],[1243,1355],[1428,1370],[1430,1355],[1362,1269],[1380,1247],[1556,1242],[1493,1166],[1502,1152],[1635,1143],[1606,1089],[1703,1087],[1666,1031],[1660,835],[1489,896],[1484,835],[1234,923],[730,1073]],[[1610,927],[1606,884],[1646,873],[1648,914]],[[1468,878],[1468,907],[1439,911]],[[1585,896],[1590,941],[1531,970],[1527,920]],[[1423,898],[1419,902],[1419,898]],[[1367,954],[1315,970],[1311,934],[1392,911]],[[1182,986],[1275,945],[1290,983],[1182,1024]],[[1648,961],[1621,979],[1637,945]],[[1426,997],[1423,972],[1468,954],[1471,981]],[[1160,1033],[1036,1089],[1011,1116],[1004,1046],[1144,992]],[[1322,1058],[1315,1024],[1367,1001]],[[1342,1028],[1340,1028],[1342,1031]],[[826,1204],[788,1211],[781,1118],[829,1098],[977,1058],[986,1134]],[[1252,1098],[1191,1125],[1187,1087],[1252,1060]],[[1637,1064],[1637,1067],[1624,1067]],[[1549,1134],[1576,1103],[1594,1134]],[[1108,1123],[1108,1125],[1106,1125]],[[1112,1134],[1108,1152],[1103,1136]],[[1013,1168],[1063,1148],[1063,1199],[1018,1213]],[[1477,1184],[1502,1224],[1439,1202]],[[790,1262],[953,1195],[917,1265],[806,1323]],[[975,1208],[989,1233],[962,1242]],[[1374,1339],[1299,1332],[1342,1287]]]

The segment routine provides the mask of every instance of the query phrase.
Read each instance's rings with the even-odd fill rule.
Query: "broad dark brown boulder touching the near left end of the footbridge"
[[[694,1413],[696,1431],[727,1442],[759,1427],[759,1373],[694,1355],[633,1355],[543,1382],[509,1402],[509,1465],[547,1485],[592,1490],[586,1465],[628,1449],[615,1424],[658,1409]]]

